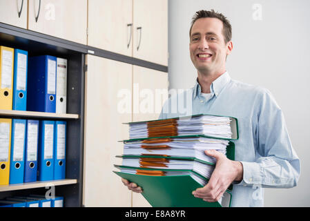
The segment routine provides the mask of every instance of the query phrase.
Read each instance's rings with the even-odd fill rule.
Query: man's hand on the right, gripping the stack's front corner
[[[229,185],[235,181],[241,181],[243,166],[241,162],[229,160],[223,153],[215,150],[204,151],[206,155],[215,157],[215,169],[206,186],[193,191],[195,198],[202,198],[207,202],[217,202]]]

